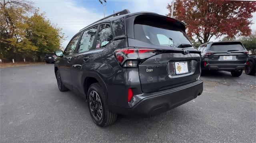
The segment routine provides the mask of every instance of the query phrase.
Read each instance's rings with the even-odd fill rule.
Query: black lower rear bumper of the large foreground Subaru
[[[132,108],[110,106],[110,110],[118,114],[151,117],[196,98],[202,91],[203,81],[197,80],[177,88],[148,93],[151,96],[142,99]]]

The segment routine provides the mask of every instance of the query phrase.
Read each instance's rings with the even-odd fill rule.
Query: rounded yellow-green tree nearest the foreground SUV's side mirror
[[[38,57],[38,61],[41,61],[41,57],[46,53],[52,53],[60,49],[60,44],[64,39],[62,29],[52,25],[46,19],[44,13],[39,14],[36,10],[26,23],[28,25],[26,38],[37,47],[35,55]]]

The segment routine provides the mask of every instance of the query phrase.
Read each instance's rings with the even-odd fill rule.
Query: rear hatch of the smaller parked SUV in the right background
[[[245,64],[248,58],[248,52],[239,41],[212,43],[207,53],[210,64]]]

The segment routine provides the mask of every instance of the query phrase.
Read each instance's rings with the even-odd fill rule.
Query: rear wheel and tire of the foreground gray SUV
[[[89,87],[87,95],[88,110],[94,123],[100,127],[113,124],[116,121],[117,114],[108,109],[107,98],[100,84],[93,83]]]

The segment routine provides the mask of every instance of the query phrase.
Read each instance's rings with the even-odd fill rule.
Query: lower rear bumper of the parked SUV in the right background
[[[219,70],[219,71],[228,71],[245,68],[246,63],[244,64],[207,64],[206,67],[202,67],[202,70]]]

